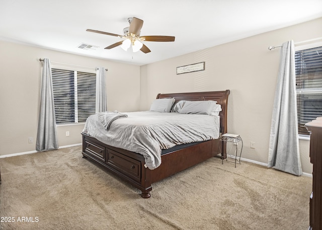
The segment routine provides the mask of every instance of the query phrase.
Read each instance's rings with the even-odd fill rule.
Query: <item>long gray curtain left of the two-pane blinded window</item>
[[[58,149],[50,61],[45,58],[43,62],[36,141],[37,151]]]

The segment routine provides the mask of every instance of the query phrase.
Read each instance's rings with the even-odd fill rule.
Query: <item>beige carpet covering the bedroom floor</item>
[[[209,159],[152,184],[149,199],[83,159],[81,146],[3,158],[0,167],[1,216],[15,218],[2,229],[308,227],[311,178],[247,162]]]

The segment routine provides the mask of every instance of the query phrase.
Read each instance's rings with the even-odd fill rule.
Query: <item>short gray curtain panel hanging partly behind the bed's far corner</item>
[[[99,67],[96,69],[96,112],[105,112],[106,110],[105,69]]]

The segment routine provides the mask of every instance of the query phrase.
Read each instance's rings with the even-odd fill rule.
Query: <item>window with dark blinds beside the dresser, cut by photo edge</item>
[[[322,117],[322,46],[295,52],[298,133],[305,123]]]

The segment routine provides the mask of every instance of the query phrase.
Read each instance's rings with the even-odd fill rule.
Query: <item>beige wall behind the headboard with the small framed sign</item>
[[[322,37],[321,28],[322,18],[141,66],[140,109],[148,109],[157,93],[230,89],[228,132],[243,139],[243,158],[267,163],[280,56],[280,48],[267,47]],[[204,71],[176,74],[178,66],[203,61]],[[303,171],[311,173],[309,141],[300,140],[300,152]]]

